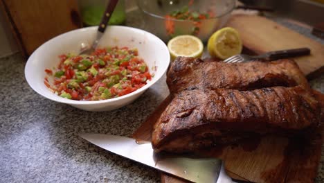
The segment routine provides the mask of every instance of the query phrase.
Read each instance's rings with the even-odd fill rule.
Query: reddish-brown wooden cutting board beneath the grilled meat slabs
[[[314,91],[324,108],[324,95]],[[152,128],[165,107],[168,96],[147,118],[133,138],[151,141]],[[323,121],[324,122],[324,121]],[[323,130],[318,128],[310,140],[263,137],[256,143],[245,142],[240,146],[224,146],[201,151],[201,155],[223,159],[227,174],[235,180],[246,182],[314,182],[321,158]],[[161,173],[161,182],[186,182]]]

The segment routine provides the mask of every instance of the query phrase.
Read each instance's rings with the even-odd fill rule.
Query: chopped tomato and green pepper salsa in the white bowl
[[[108,47],[91,55],[60,55],[57,68],[45,69],[53,77],[46,87],[58,96],[76,101],[99,101],[134,92],[152,76],[137,49]]]

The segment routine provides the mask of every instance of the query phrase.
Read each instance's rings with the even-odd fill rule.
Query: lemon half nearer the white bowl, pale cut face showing
[[[179,35],[168,42],[172,59],[178,56],[199,58],[204,51],[204,44],[193,35]]]

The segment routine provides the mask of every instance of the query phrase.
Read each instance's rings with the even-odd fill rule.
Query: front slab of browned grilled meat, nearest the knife
[[[294,134],[318,125],[321,107],[303,87],[185,90],[154,125],[156,152],[188,152],[252,134]]]

